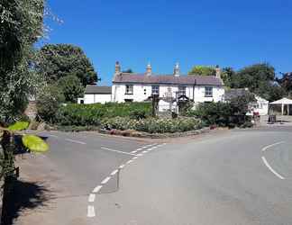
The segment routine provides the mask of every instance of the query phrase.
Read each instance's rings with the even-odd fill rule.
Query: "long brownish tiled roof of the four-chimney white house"
[[[114,76],[113,83],[134,84],[171,84],[171,85],[223,85],[221,78],[216,76],[173,76],[121,73]]]

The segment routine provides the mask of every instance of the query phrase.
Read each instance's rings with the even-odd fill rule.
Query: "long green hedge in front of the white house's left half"
[[[62,126],[99,126],[105,117],[144,119],[151,115],[151,103],[70,103],[61,106],[55,123]]]

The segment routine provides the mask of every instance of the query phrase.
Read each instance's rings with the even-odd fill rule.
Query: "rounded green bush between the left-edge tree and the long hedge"
[[[48,85],[38,94],[36,107],[38,116],[43,121],[53,121],[60,103],[64,102],[64,94],[57,85]]]

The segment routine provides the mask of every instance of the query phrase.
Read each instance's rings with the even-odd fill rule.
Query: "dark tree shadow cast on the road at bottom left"
[[[51,195],[50,191],[43,184],[27,183],[14,180],[12,190],[6,195],[3,206],[3,221],[5,225],[12,225],[14,219],[18,218],[26,209],[36,209],[47,206]]]

